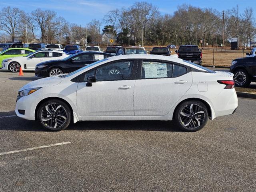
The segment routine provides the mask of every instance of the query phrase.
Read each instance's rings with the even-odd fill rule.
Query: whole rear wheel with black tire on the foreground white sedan
[[[174,123],[184,131],[198,131],[205,126],[207,120],[207,107],[197,100],[179,104],[174,112]]]

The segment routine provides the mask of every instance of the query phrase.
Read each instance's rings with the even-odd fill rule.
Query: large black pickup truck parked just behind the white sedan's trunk
[[[203,55],[197,45],[181,45],[175,52],[178,54],[178,58],[202,65]]]

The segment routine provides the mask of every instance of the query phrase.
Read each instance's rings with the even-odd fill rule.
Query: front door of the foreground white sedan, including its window
[[[119,60],[83,74],[76,93],[77,109],[83,120],[89,116],[134,116],[135,73],[136,60]],[[96,82],[86,86],[87,77],[94,74]]]

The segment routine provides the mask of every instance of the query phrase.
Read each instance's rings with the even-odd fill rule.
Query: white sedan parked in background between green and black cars
[[[19,72],[20,67],[22,70],[35,70],[36,65],[50,60],[62,60],[70,54],[66,54],[60,51],[39,50],[32,52],[25,57],[14,57],[3,60],[2,66],[4,70],[10,70],[11,72]]]

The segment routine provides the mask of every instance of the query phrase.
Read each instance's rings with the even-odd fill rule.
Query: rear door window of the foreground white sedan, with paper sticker
[[[143,61],[142,79],[171,78],[173,64],[166,62]]]

